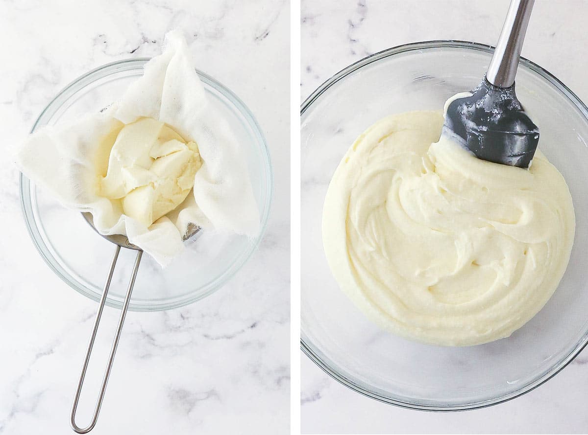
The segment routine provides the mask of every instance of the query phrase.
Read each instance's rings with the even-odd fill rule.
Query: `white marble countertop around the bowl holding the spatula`
[[[302,0],[301,97],[350,63],[408,42],[494,45],[507,0]],[[537,1],[523,56],[588,100],[586,1]],[[588,350],[532,392],[487,409],[426,413],[363,397],[302,358],[303,433],[586,433]]]

